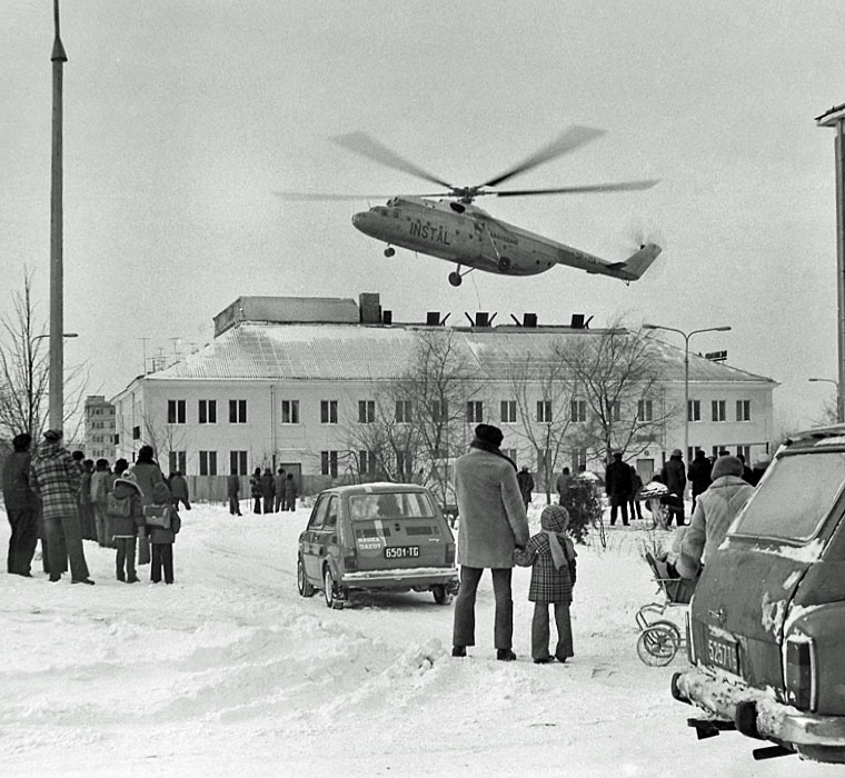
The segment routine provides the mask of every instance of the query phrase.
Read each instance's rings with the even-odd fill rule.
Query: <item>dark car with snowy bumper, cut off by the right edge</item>
[[[845,762],[845,425],[777,452],[707,559],[687,637],[694,667],[672,691],[708,714],[689,721],[699,737]]]

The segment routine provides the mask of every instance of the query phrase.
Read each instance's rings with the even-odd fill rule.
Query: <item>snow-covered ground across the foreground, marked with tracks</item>
[[[454,659],[451,606],[428,594],[359,597],[341,611],[300,598],[307,517],[183,511],[173,586],[148,584],[149,567],[142,584],[118,582],[115,552],[92,542],[95,587],[50,584],[40,562],[32,580],[0,572],[0,775],[841,774],[796,757],[755,762],[736,734],[696,740],[693,709],[669,695],[685,655],[649,668],[636,654],[634,616],[656,590],[639,522],[610,529],[606,550],[579,547],[576,656],[540,666],[529,570],[514,575],[519,660],[495,659],[488,575],[478,645]]]

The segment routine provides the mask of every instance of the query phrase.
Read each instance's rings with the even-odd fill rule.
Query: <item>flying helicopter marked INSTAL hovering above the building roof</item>
[[[614,262],[509,225],[474,205],[475,199],[479,197],[636,191],[650,189],[657,183],[656,180],[644,180],[551,189],[496,189],[508,179],[569,153],[603,134],[604,130],[595,128],[570,127],[550,143],[484,183],[455,187],[400,157],[366,132],[350,132],[329,140],[385,167],[410,173],[448,191],[416,196],[304,192],[276,194],[282,199],[300,201],[389,198],[384,206],[374,206],[369,210],[355,213],[355,228],[387,243],[386,257],[392,257],[396,253],[395,247],[399,247],[454,262],[458,267],[448,276],[449,283],[454,287],[460,286],[464,277],[473,270],[503,276],[534,276],[556,265],[609,276],[629,283],[639,279],[657,259],[662,251],[659,246],[653,242],[642,243],[630,257]]]

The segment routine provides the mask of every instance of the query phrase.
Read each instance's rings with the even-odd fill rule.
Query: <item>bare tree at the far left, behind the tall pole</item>
[[[8,436],[29,432],[38,438],[47,423],[50,360],[44,325],[32,300],[32,275],[24,270],[23,291],[12,296],[12,312],[0,317],[0,430]],[[84,363],[64,373],[64,425],[81,421],[88,368]]]

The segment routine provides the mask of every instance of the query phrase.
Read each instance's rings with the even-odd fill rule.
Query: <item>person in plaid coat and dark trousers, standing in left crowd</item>
[[[61,539],[64,538],[70,557],[70,582],[93,585],[89,578],[79,528],[77,498],[81,473],[70,452],[61,446],[61,437],[60,429],[48,429],[29,468],[32,491],[41,498],[50,557],[50,580],[61,579],[59,560],[62,557]]]

